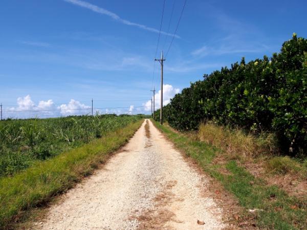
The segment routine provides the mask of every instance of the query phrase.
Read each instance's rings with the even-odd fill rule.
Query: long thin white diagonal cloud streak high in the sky
[[[77,5],[77,6],[80,6],[80,7],[83,7],[83,8],[86,8],[86,9],[89,9],[89,10],[92,10],[96,13],[109,16],[109,17],[113,18],[114,20],[121,22],[124,25],[134,26],[134,27],[138,27],[140,29],[147,30],[147,31],[150,31],[150,32],[159,33],[159,30],[157,30],[155,28],[147,27],[145,25],[138,24],[138,23],[131,22],[129,20],[123,19],[119,15],[117,15],[116,13],[113,13],[111,11],[108,11],[106,9],[98,7],[98,6],[93,5],[91,3],[87,3],[87,2],[84,2],[84,1],[80,1],[80,0],[64,0],[64,1],[71,3],[71,4],[74,4],[74,5]],[[161,31],[161,34],[164,34],[164,35],[167,35],[167,36],[173,36],[173,34],[166,33],[164,31]],[[178,35],[175,35],[175,37],[180,38],[180,36],[178,36]]]

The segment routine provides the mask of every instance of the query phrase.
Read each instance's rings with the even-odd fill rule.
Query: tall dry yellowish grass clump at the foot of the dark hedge
[[[280,155],[279,144],[272,133],[261,133],[256,136],[246,133],[239,128],[218,126],[214,123],[202,123],[199,128],[199,139],[209,145],[223,150],[228,160],[256,160],[265,161],[262,167],[273,174],[295,174],[306,179],[307,168],[300,161],[302,159]]]

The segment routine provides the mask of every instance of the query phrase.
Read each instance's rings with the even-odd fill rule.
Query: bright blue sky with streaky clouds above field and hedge
[[[58,116],[14,111],[62,108],[67,115],[87,109],[92,98],[96,108],[127,107],[108,112],[148,112],[138,106],[148,105],[152,85],[160,89],[158,63],[154,84],[152,76],[163,2],[1,1],[0,102],[11,110],[4,115]],[[176,0],[168,30],[173,0],[166,0],[157,56],[168,49],[183,4]],[[165,103],[243,56],[271,56],[293,32],[307,37],[306,9],[295,0],[187,0],[165,61]]]

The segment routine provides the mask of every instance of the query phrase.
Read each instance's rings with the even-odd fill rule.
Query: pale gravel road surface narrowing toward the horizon
[[[224,228],[222,211],[204,195],[207,186],[206,177],[146,120],[121,152],[64,194],[32,228]]]

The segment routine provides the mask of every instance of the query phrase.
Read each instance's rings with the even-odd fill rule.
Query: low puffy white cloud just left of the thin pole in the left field
[[[76,114],[86,114],[91,111],[91,106],[81,104],[79,101],[71,99],[68,104],[62,104],[57,107],[60,113],[64,116],[76,115]]]

